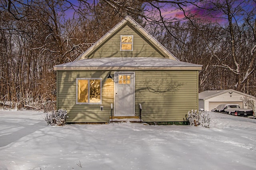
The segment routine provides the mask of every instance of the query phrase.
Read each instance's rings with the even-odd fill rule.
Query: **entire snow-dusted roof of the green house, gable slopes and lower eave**
[[[122,28],[122,25],[129,22],[138,32],[150,41],[165,58],[154,57],[109,57],[109,58],[87,58],[95,49],[99,47],[114,33]],[[54,70],[201,70],[202,65],[191,64],[179,61],[172,53],[162,46],[154,37],[143,29],[130,16],[127,16],[113,29],[108,31],[92,47],[86,50],[75,61],[54,66]]]

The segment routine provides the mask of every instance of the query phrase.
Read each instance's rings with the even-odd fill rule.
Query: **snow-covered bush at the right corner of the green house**
[[[206,111],[188,111],[188,121],[190,125],[210,128],[211,116]]]

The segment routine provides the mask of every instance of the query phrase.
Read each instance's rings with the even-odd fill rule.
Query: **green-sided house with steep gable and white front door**
[[[104,123],[110,115],[184,122],[198,109],[202,65],[176,59],[127,16],[75,61],[54,66],[57,109],[67,123]]]

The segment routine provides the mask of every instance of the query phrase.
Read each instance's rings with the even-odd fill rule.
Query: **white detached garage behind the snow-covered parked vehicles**
[[[242,100],[245,97],[248,97],[249,101],[250,98],[252,99],[251,104],[256,103],[253,96],[236,90],[206,90],[198,94],[199,108],[211,111],[220,104],[239,104],[241,108],[247,109],[250,108],[250,106]]]

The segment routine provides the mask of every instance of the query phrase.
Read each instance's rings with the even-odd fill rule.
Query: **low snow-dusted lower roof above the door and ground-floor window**
[[[202,65],[166,58],[125,57],[82,59],[54,66],[54,70],[201,70]]]

